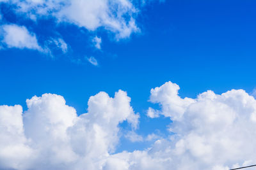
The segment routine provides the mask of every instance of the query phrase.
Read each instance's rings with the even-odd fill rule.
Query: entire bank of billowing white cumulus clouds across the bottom
[[[0,106],[0,169],[224,170],[256,162],[254,97],[244,90],[220,95],[209,90],[183,99],[178,91],[169,81],[150,92],[150,101],[161,106],[157,115],[172,120],[166,137],[136,134],[140,115],[122,90],[115,97],[105,92],[90,97],[88,113],[80,116],[56,94],[28,99],[26,111]],[[124,121],[131,131],[120,134]],[[154,143],[115,153],[122,135]]]

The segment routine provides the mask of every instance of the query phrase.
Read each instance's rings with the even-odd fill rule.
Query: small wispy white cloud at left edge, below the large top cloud
[[[1,29],[3,29],[2,43],[6,44],[9,48],[29,48],[42,51],[35,34],[29,32],[26,27],[2,25]]]

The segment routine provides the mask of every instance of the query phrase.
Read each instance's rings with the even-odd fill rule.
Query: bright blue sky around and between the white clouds
[[[180,86],[180,97],[196,98],[213,90],[216,94],[244,89],[251,94],[256,85],[255,1],[166,0],[132,1],[132,14],[139,31],[116,38],[104,25],[90,30],[70,22],[58,22],[51,14],[36,22],[1,3],[1,25],[23,25],[36,35],[38,44],[61,38],[62,52],[54,43],[50,53],[29,48],[0,50],[0,105],[20,104],[45,93],[63,96],[77,114],[86,113],[88,99],[100,91],[113,97],[122,89],[131,97],[131,106],[140,113],[136,132],[168,135],[170,117],[147,117],[150,89],[172,81]],[[131,17],[131,16],[130,16]],[[31,33],[32,34],[32,33]],[[1,38],[3,38],[3,35]],[[101,38],[100,49],[92,39]],[[53,40],[52,40],[53,41]],[[94,66],[88,59],[97,60]],[[124,129],[127,125],[121,124]],[[144,149],[151,142],[131,143],[121,138],[115,152]]]

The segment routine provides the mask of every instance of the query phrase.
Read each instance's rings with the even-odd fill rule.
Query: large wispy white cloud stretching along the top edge
[[[32,20],[38,17],[54,17],[59,22],[68,22],[89,31],[99,27],[113,32],[116,39],[127,38],[138,32],[134,16],[138,12],[129,0],[11,0],[17,6],[17,13],[23,13]]]

